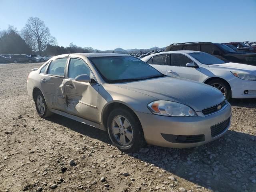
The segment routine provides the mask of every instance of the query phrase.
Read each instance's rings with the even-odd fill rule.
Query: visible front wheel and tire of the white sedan
[[[232,96],[232,91],[231,88],[229,86],[229,84],[227,82],[225,82],[224,80],[220,80],[220,79],[213,79],[210,80],[209,82],[207,82],[208,85],[218,88],[222,94],[226,97],[227,100],[231,99]]]

